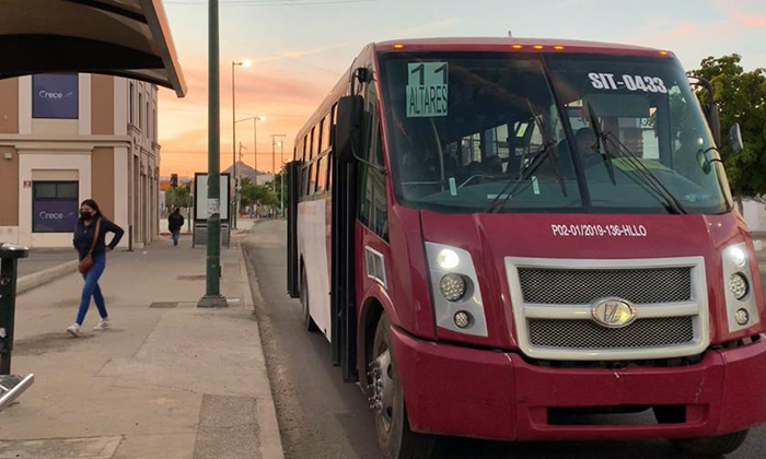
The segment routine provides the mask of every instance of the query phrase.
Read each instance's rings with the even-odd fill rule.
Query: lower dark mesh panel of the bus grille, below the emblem
[[[694,341],[692,317],[638,319],[625,328],[604,328],[590,320],[529,319],[530,342],[559,349],[636,349]]]

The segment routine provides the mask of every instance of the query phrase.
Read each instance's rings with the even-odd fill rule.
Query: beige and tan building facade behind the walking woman
[[[69,247],[94,199],[142,247],[159,234],[158,87],[95,74],[0,80],[0,242]]]

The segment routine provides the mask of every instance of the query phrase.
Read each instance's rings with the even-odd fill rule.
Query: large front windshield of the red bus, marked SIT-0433
[[[731,208],[699,104],[672,58],[461,51],[380,59],[403,205],[463,213]]]

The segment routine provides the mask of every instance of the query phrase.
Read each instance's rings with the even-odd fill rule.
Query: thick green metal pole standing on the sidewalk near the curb
[[[218,0],[208,0],[208,244],[205,296],[198,307],[225,307],[221,295],[221,101]]]

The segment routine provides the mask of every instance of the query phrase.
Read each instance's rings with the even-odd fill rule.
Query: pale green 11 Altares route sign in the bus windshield
[[[446,116],[446,62],[410,62],[407,71],[407,117]]]

